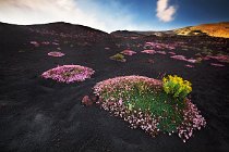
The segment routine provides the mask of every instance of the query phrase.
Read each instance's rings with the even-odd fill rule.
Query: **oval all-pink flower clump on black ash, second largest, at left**
[[[86,78],[91,78],[94,73],[95,71],[92,68],[81,65],[62,65],[43,73],[41,77],[69,84],[84,81]]]

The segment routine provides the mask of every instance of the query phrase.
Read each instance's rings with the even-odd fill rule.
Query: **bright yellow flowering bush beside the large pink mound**
[[[166,93],[172,94],[174,98],[184,99],[192,91],[192,84],[183,78],[174,75],[162,78],[162,88]]]

